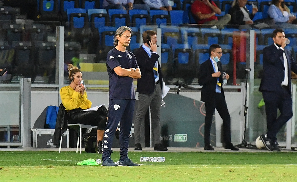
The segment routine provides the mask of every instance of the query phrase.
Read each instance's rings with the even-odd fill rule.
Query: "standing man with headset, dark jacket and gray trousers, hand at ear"
[[[140,68],[141,78],[137,80],[138,108],[134,121],[135,150],[142,150],[140,145],[140,132],[144,117],[151,107],[151,124],[154,136],[154,150],[167,151],[160,140],[160,107],[162,102],[162,71],[158,61],[157,32],[144,31],[142,34],[144,44],[134,50],[137,64]]]

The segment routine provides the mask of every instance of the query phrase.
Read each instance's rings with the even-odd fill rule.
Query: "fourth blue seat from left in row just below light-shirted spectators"
[[[131,20],[131,25],[135,27],[140,27],[141,25],[149,25],[151,23],[151,17],[147,10],[129,10],[129,16]]]

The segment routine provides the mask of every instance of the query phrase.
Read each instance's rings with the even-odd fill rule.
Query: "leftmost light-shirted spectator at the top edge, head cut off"
[[[103,0],[103,8],[108,9],[120,9],[120,10],[149,10],[149,7],[145,4],[134,4],[134,0]]]

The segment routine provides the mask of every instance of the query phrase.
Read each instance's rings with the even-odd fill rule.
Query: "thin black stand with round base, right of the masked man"
[[[235,145],[238,148],[249,148],[249,149],[257,149],[257,147],[255,145],[252,145],[250,143],[247,143],[247,140],[245,139],[246,137],[246,130],[247,130],[247,79],[248,79],[248,75],[249,75],[249,71],[251,71],[252,69],[245,69],[245,76],[246,76],[246,80],[245,80],[245,101],[244,101],[244,135],[243,135],[243,139],[241,144]]]

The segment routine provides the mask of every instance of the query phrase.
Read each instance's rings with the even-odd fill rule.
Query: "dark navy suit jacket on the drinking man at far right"
[[[259,91],[282,91],[282,81],[285,77],[282,53],[283,50],[277,49],[274,44],[263,49],[263,77]],[[289,50],[285,49],[285,55],[288,61],[288,86],[291,90],[291,70],[297,73],[297,65]]]

